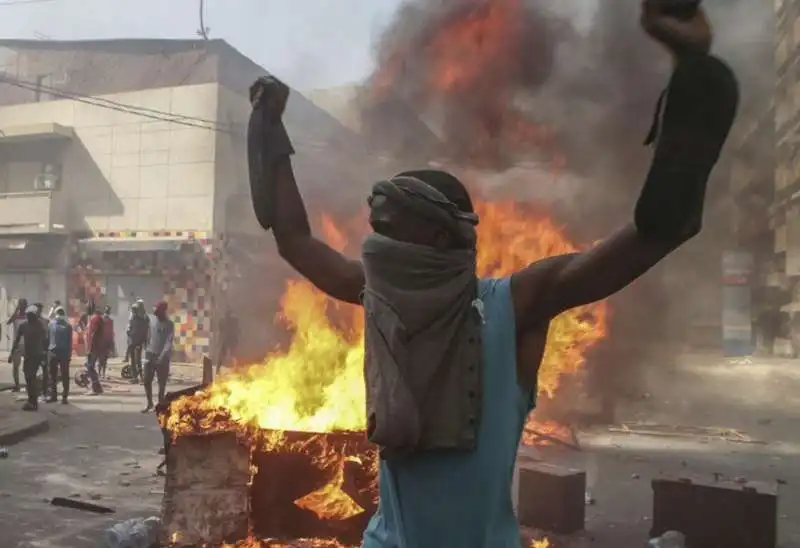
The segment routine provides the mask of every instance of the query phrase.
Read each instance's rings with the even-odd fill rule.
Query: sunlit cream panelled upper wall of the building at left
[[[217,84],[202,84],[100,99],[215,120],[218,90]],[[72,100],[0,107],[0,128],[37,123],[75,129],[62,180],[74,228],[214,229],[219,133]]]

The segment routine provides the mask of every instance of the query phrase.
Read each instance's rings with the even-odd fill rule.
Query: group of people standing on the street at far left
[[[147,402],[143,413],[154,408],[153,380],[158,381],[158,401],[164,399],[175,332],[174,323],[167,314],[167,303],[157,303],[153,316],[151,320],[144,301],[140,299],[130,308],[126,328],[125,362],[130,366],[131,382],[144,383]],[[85,340],[84,367],[90,384],[87,394],[103,393],[100,379],[107,378],[108,360],[116,355],[117,350],[110,306],[105,306],[101,312],[93,302],[89,302],[85,313],[73,325],[59,301],[53,303],[45,316],[41,303],[29,306],[27,299],[22,298],[6,325],[11,328],[14,341],[8,356],[12,366],[12,390],[22,390],[20,371],[25,382],[27,401],[23,410],[36,411],[40,398],[48,403],[57,402],[59,380],[61,403],[68,403],[69,368],[76,350],[73,343],[76,332]]]

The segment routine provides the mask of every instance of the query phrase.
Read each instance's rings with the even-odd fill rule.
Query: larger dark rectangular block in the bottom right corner
[[[651,537],[680,531],[692,548],[775,548],[777,485],[655,479]]]

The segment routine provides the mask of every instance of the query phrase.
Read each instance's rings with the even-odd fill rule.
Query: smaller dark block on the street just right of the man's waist
[[[586,473],[542,462],[519,464],[517,516],[524,527],[568,535],[584,528]]]

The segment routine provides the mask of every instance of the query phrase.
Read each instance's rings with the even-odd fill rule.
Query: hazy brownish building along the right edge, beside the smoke
[[[773,7],[774,42],[759,66],[774,70],[745,97],[730,139],[730,249],[753,265],[746,281],[755,349],[793,354],[792,332],[800,327],[800,2]],[[736,280],[724,285],[733,291]]]

